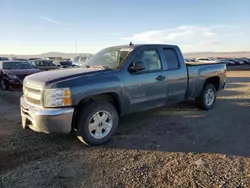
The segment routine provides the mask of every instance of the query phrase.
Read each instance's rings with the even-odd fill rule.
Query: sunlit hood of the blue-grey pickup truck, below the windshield
[[[97,74],[100,71],[105,70],[101,68],[71,68],[44,71],[25,77],[24,85],[32,88],[43,89],[45,88],[45,85],[49,83],[73,79],[83,75],[88,75],[89,73]]]

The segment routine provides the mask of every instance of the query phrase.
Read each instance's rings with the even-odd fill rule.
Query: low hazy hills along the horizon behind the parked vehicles
[[[62,52],[47,52],[37,55],[18,55],[18,54],[2,54],[4,57],[19,57],[19,58],[46,58],[46,57],[62,57],[62,58],[73,58],[76,55],[93,55],[91,53],[62,53]],[[238,52],[187,52],[184,53],[185,57],[250,57],[250,51],[238,51]]]

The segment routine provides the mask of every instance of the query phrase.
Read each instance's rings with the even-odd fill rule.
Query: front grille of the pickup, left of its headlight
[[[24,85],[23,96],[29,104],[34,106],[41,106],[41,95],[42,92],[40,89]]]

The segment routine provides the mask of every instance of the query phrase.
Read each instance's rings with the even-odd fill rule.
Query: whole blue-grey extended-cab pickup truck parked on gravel
[[[101,145],[126,114],[187,99],[213,108],[225,82],[225,64],[186,64],[175,45],[109,47],[82,68],[26,77],[22,126],[44,133],[76,132],[83,143]]]

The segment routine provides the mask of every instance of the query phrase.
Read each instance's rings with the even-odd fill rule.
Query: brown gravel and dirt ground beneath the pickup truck
[[[250,68],[227,77],[214,109],[126,116],[100,147],[23,130],[20,92],[0,91],[0,187],[250,187]]]

